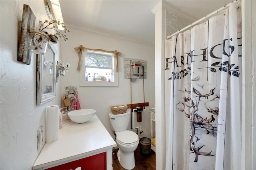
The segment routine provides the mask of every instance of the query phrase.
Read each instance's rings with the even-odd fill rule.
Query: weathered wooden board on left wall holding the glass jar
[[[35,28],[36,16],[31,8],[23,4],[20,40],[18,44],[18,61],[30,65],[31,52],[29,51],[30,29]]]

